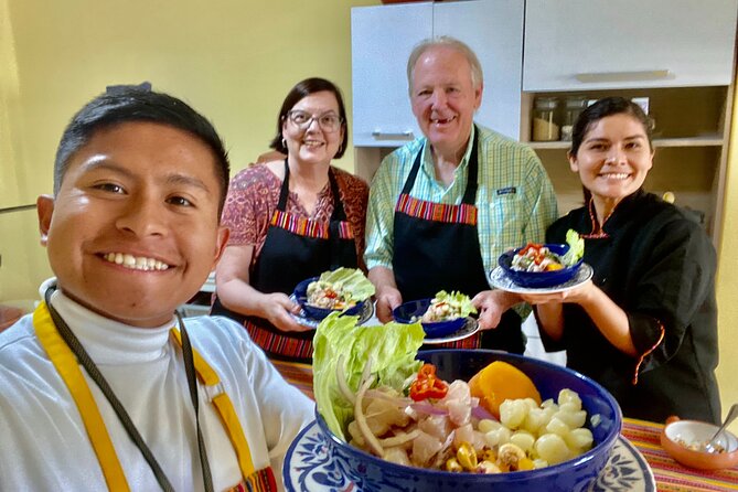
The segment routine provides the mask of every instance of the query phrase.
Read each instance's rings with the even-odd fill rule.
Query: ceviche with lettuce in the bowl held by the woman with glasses
[[[349,309],[374,296],[374,285],[356,268],[338,268],[311,281],[307,303],[321,309]]]

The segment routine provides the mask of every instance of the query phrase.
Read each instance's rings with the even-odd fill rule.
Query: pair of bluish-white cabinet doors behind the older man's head
[[[484,72],[475,120],[520,138],[524,0],[362,7],[351,11],[354,147],[397,147],[420,135],[407,58],[431,35],[469,44]]]

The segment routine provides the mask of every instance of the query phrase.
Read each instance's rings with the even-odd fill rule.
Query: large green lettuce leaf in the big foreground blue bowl
[[[313,393],[318,411],[328,427],[345,440],[344,431],[354,409],[339,388],[339,363],[343,365],[349,388],[356,393],[367,361],[372,360],[375,385],[403,389],[421,365],[415,356],[425,332],[420,323],[356,327],[357,317],[331,313],[313,338]]]

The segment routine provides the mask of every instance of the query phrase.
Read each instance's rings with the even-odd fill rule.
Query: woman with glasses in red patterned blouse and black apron
[[[270,356],[312,357],[312,330],[291,315],[299,312],[289,298],[298,282],[338,267],[365,269],[368,186],[331,165],[343,156],[347,133],[339,88],[307,78],[285,98],[271,141],[287,158],[231,181],[223,211],[231,237],[211,313],[243,322]]]

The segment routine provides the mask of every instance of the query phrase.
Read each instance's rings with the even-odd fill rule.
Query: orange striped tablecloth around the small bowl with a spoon
[[[661,447],[663,424],[624,419],[622,435],[641,451],[651,466],[660,492],[738,491],[738,468],[703,471],[674,461]]]

